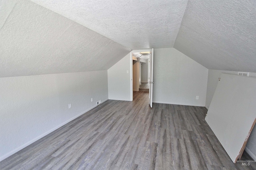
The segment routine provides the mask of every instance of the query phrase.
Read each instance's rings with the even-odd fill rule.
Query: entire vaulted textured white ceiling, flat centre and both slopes
[[[132,49],[167,47],[256,72],[255,0],[32,1],[0,2],[0,77],[106,70]]]

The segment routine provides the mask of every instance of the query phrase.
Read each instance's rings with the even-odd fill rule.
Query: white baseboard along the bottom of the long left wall
[[[101,103],[106,102],[107,100],[108,100],[108,99],[103,100]],[[40,135],[40,136],[38,136],[38,137],[32,139],[31,141],[28,141],[28,142],[25,143],[24,145],[22,145],[22,146],[20,146],[20,147],[18,147],[18,148],[16,148],[16,149],[14,149],[14,150],[12,150],[11,152],[8,152],[8,153],[5,154],[4,156],[1,156],[1,157],[0,157],[0,161],[2,161],[2,160],[4,160],[4,159],[8,158],[8,157],[11,156],[12,154],[15,154],[16,152],[18,152],[18,151],[24,149],[25,147],[27,147],[28,145],[30,145],[30,144],[34,143],[35,141],[41,139],[42,137],[45,137],[46,135],[48,135],[49,133],[52,133],[53,131],[55,131],[56,129],[62,127],[63,125],[66,125],[68,122],[70,122],[70,121],[76,119],[76,118],[79,117],[80,115],[82,115],[82,114],[84,114],[84,113],[90,111],[91,109],[93,109],[93,108],[96,107],[96,106],[97,106],[97,105],[90,107],[89,109],[83,111],[82,113],[79,113],[78,115],[72,117],[71,119],[65,121],[64,123],[61,123],[60,125],[58,125],[58,126],[52,128],[52,129],[50,129],[49,131],[43,133],[42,135]]]

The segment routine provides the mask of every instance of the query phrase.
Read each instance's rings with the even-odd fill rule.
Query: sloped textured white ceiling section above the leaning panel
[[[256,72],[256,1],[189,0],[174,48],[208,69]]]

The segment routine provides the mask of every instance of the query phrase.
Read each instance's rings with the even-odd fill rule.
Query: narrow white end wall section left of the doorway
[[[130,53],[108,69],[108,99],[131,101]],[[128,70],[128,73],[127,73]]]

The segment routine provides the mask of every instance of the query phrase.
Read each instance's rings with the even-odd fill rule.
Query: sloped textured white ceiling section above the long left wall
[[[107,70],[131,51],[27,0],[2,0],[0,16],[0,77]]]

